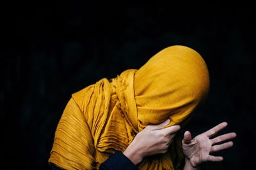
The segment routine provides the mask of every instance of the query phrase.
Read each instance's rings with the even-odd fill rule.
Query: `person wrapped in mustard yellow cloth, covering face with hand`
[[[222,160],[209,153],[232,146],[225,141],[236,134],[210,138],[227,123],[193,139],[187,131],[182,142],[176,135],[204,104],[209,82],[199,53],[177,45],[138,70],[85,87],[72,94],[63,111],[49,164],[55,169],[196,169]]]

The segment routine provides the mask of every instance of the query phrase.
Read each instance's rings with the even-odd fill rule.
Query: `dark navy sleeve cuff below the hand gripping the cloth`
[[[109,159],[100,164],[100,170],[107,169],[138,170],[138,167],[136,167],[122,152],[117,151],[109,157]]]

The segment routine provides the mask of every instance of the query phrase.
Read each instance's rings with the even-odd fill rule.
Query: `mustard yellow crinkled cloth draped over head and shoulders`
[[[204,59],[186,46],[170,46],[140,69],[72,94],[56,129],[49,162],[63,169],[99,169],[149,124],[170,118],[181,124],[204,103],[209,73]],[[176,143],[176,144],[175,144]],[[139,169],[174,169],[182,152],[174,141],[168,152],[143,159]]]

